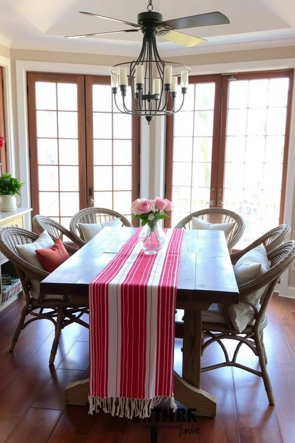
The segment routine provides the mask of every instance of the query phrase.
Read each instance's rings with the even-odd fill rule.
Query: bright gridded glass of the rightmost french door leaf
[[[223,201],[245,220],[238,249],[279,224],[288,82],[229,82]]]

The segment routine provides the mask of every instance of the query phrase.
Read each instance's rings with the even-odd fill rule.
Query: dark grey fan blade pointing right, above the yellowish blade
[[[223,25],[230,23],[230,19],[221,12],[207,12],[198,16],[182,17],[180,19],[166,20],[157,26],[171,26],[172,29],[187,29],[191,27]]]

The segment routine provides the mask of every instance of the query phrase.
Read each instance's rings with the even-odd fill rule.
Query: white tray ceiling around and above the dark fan
[[[131,27],[79,14],[93,12],[137,23],[148,0],[0,0],[0,44],[10,48],[94,54],[136,55],[142,34],[65,39],[65,35],[119,31]],[[230,24],[185,29],[207,42],[192,48],[158,39],[161,56],[295,45],[294,0],[153,0],[163,20],[220,11]]]

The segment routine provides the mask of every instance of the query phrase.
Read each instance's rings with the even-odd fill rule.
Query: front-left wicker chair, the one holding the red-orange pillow
[[[68,295],[49,295],[34,292],[36,284],[38,285],[49,272],[43,271],[23,260],[16,249],[16,245],[25,245],[33,243],[38,239],[38,234],[27,231],[23,228],[6,226],[0,229],[0,251],[15,266],[15,270],[23,286],[23,295],[25,305],[21,312],[19,323],[16,326],[12,337],[10,351],[13,351],[18,341],[20,331],[28,324],[37,319],[48,319],[54,324],[55,334],[51,348],[49,363],[53,364],[61,329],[71,323],[79,323],[82,326],[89,327],[82,316],[88,313],[88,306],[72,303]],[[33,296],[34,295],[34,296]]]

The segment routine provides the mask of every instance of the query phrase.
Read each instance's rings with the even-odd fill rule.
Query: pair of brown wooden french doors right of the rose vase
[[[167,118],[165,196],[175,206],[167,226],[225,207],[245,219],[247,243],[284,220],[293,75],[190,78],[185,109]]]

